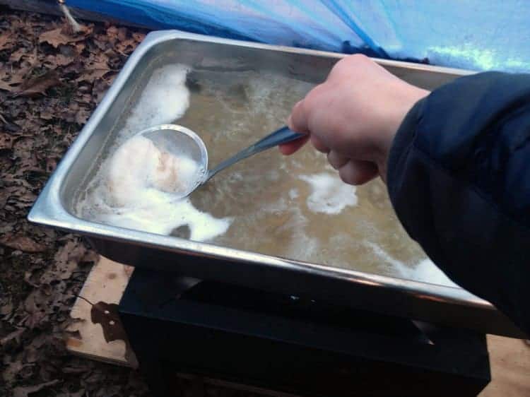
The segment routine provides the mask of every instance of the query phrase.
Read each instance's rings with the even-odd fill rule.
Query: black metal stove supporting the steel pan
[[[120,315],[155,396],[177,396],[177,374],[275,396],[476,396],[490,381],[481,333],[175,273],[136,268]]]

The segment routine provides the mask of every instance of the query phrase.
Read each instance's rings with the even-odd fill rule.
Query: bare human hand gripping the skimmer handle
[[[363,55],[341,59],[326,81],[293,107],[288,125],[307,138],[281,145],[281,153],[295,153],[310,140],[327,153],[343,182],[364,184],[377,174],[386,180],[396,131],[408,110],[428,94]]]

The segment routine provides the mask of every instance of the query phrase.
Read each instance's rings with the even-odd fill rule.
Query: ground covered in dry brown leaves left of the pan
[[[0,8],[0,396],[146,396],[131,369],[73,357],[69,312],[97,260],[31,225],[33,201],[146,32]]]

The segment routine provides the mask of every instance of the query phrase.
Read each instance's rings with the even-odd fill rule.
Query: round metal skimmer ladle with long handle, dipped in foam
[[[162,124],[145,129],[137,135],[150,139],[158,150],[166,151],[177,157],[188,156],[199,164],[196,178],[193,179],[194,183],[189,184],[187,189],[184,189],[183,191],[175,192],[178,196],[185,197],[202,184],[208,182],[208,180],[214,177],[218,172],[230,167],[230,165],[234,165],[236,162],[249,158],[250,156],[269,148],[273,148],[274,146],[281,145],[282,143],[295,141],[305,134],[298,134],[298,132],[292,131],[284,126],[281,129],[274,131],[272,134],[260,139],[248,148],[241,150],[236,155],[228,158],[228,160],[220,162],[217,167],[214,167],[211,170],[208,170],[208,151],[206,150],[206,145],[204,145],[202,139],[191,129],[187,129],[186,127],[177,124]]]

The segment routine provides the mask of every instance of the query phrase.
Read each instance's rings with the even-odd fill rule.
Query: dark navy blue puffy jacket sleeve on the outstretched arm
[[[530,334],[530,75],[466,76],[420,100],[387,183],[432,261]]]

